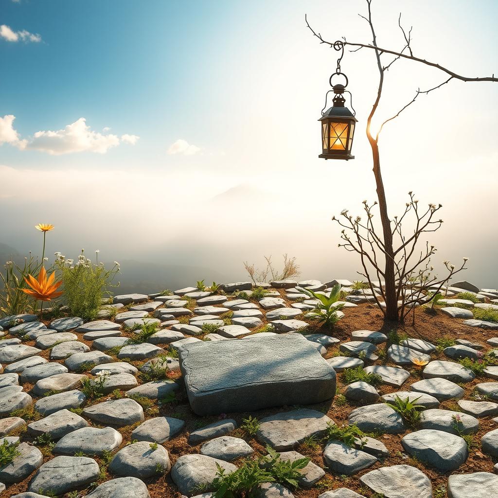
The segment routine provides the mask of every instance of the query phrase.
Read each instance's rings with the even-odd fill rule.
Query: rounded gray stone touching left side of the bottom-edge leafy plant
[[[235,465],[207,455],[183,455],[173,465],[171,479],[186,496],[198,494],[200,487],[205,492],[213,491],[211,483],[218,473],[216,464],[225,469],[226,474],[237,470]]]

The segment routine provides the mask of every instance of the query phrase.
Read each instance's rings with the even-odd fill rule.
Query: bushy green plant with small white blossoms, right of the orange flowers
[[[63,302],[68,307],[70,316],[93,320],[101,308],[102,299],[110,296],[110,288],[120,270],[119,263],[108,270],[103,263],[93,262],[87,258],[82,249],[78,261],[66,259],[56,253],[55,266],[58,278],[63,282]]]

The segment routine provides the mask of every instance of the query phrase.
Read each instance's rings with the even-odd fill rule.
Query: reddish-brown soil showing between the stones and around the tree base
[[[284,292],[281,292],[282,297],[285,296]],[[345,317],[338,322],[338,324],[335,326],[333,331],[324,331],[320,330],[320,332],[323,333],[328,333],[331,336],[337,337],[340,339],[342,342],[348,341],[351,338],[351,332],[355,330],[376,330],[376,331],[381,331],[385,334],[387,334],[389,331],[392,330],[397,330],[399,334],[406,334],[406,336],[411,337],[411,338],[420,338],[427,340],[429,342],[435,343],[437,342],[438,339],[442,337],[446,338],[451,338],[451,339],[467,339],[476,343],[482,344],[486,350],[489,349],[489,345],[486,343],[487,339],[490,339],[491,337],[494,337],[493,331],[488,331],[488,330],[482,330],[478,328],[472,328],[468,327],[466,325],[463,325],[461,321],[457,319],[452,319],[449,318],[445,315],[443,315],[441,312],[437,312],[436,314],[428,314],[427,312],[423,311],[422,309],[418,308],[415,311],[415,325],[411,325],[411,317],[408,319],[409,323],[406,323],[404,325],[400,325],[397,323],[388,323],[385,322],[382,316],[382,313],[376,306],[372,304],[361,304],[356,308],[346,308],[344,310],[345,312]],[[151,314],[152,316],[152,314]],[[300,317],[297,317],[300,318]],[[263,320],[264,323],[266,323]],[[318,329],[317,329],[318,331]],[[92,343],[89,341],[84,341],[82,339],[82,335],[78,334],[78,340],[87,344],[89,347],[91,347]],[[126,334],[128,335],[128,334]],[[5,336],[5,337],[8,337]],[[25,344],[32,345],[34,346],[34,341],[27,342]],[[366,361],[366,365],[391,365],[395,366],[392,364],[389,364],[389,362],[386,362],[386,355],[385,351],[387,349],[386,345],[379,345],[377,346],[377,350],[380,351],[380,359],[377,360],[376,362],[368,362]],[[333,356],[338,355],[338,347],[334,346],[329,348],[327,355],[325,358],[331,358]],[[49,357],[49,350],[44,351],[41,353],[42,357],[47,358]],[[431,359],[447,359],[441,352],[435,352],[431,355]],[[120,361],[116,359],[116,361]],[[59,361],[58,363],[64,363],[62,360]],[[132,362],[135,366],[139,367],[145,361],[141,362]],[[420,380],[420,371],[416,368],[410,368],[409,369],[412,375],[408,378],[408,380],[403,384],[403,386],[400,389],[397,389],[395,387],[387,386],[387,385],[382,385],[378,388],[380,394],[385,394],[388,392],[395,392],[396,390],[408,390],[409,386],[413,383],[416,382],[417,380]],[[185,427],[183,431],[180,433],[180,435],[176,436],[172,441],[168,441],[164,443],[164,447],[168,450],[171,464],[174,465],[176,459],[184,454],[188,453],[199,453],[200,452],[200,447],[201,445],[198,446],[190,446],[187,442],[188,435],[191,431],[198,429],[202,426],[205,426],[209,423],[212,423],[222,417],[216,417],[216,416],[207,416],[207,417],[200,417],[192,413],[190,410],[190,406],[188,404],[188,400],[186,397],[185,389],[183,387],[183,383],[181,381],[181,375],[180,373],[175,373],[172,375],[173,379],[178,379],[178,382],[181,386],[181,389],[179,390],[179,393],[177,394],[177,400],[174,401],[173,403],[167,404],[165,406],[159,407],[159,415],[161,416],[170,416],[170,417],[175,417],[175,418],[180,418],[185,421]],[[338,379],[338,388],[343,391],[345,384],[342,382],[342,375],[341,373],[338,373],[337,375]],[[139,383],[142,383],[140,378],[137,377],[137,380]],[[465,398],[469,399],[471,396],[471,393],[473,391],[473,388],[475,384],[479,382],[486,382],[489,381],[490,379],[487,377],[477,377],[476,380],[473,382],[469,382],[467,384],[462,384],[462,387],[465,389]],[[26,385],[25,384],[25,390],[29,390],[32,388],[32,385]],[[36,400],[36,398],[33,398]],[[100,399],[96,400],[91,400],[87,403],[88,405],[95,404],[101,401],[104,401],[106,399],[110,399],[110,396],[105,396]],[[365,403],[364,403],[365,404]],[[357,406],[360,406],[360,404],[355,405],[354,403],[348,402],[344,406],[337,406],[334,402],[328,402],[328,403],[322,403],[319,405],[311,405],[308,406],[309,408],[314,408],[319,411],[322,411],[324,413],[327,413],[327,415],[334,420],[337,424],[345,424],[348,421],[348,415],[349,413],[356,408]],[[234,418],[239,425],[241,424],[242,420],[247,418],[249,415],[253,417],[257,417],[258,419],[261,419],[267,415],[274,414],[278,411],[286,411],[289,409],[295,408],[295,406],[282,406],[278,408],[271,408],[267,410],[260,410],[257,412],[248,412],[248,413],[227,413],[226,417],[227,418]],[[451,409],[458,411],[458,405],[456,404],[456,400],[449,400],[449,401],[444,401],[441,403],[441,408],[445,409]],[[157,412],[153,414],[145,414],[145,418],[152,418],[158,416]],[[224,415],[225,416],[225,415]],[[224,417],[223,416],[223,417]],[[493,466],[494,466],[494,461],[488,456],[480,451],[480,440],[481,437],[488,431],[493,430],[497,428],[497,424],[493,422],[491,417],[485,417],[485,418],[480,418],[480,429],[479,432],[474,436],[474,441],[475,444],[471,448],[469,452],[469,458],[467,459],[466,463],[462,465],[458,470],[454,471],[453,474],[468,474],[472,472],[478,472],[478,471],[486,471],[486,472],[493,472]],[[28,422],[29,423],[29,422]],[[94,424],[95,425],[95,424]],[[129,442],[130,440],[130,434],[131,431],[136,427],[135,424],[134,426],[128,426],[119,429],[119,431],[123,434],[123,445],[122,447]],[[410,432],[410,431],[407,431]],[[406,432],[406,433],[407,433]],[[406,434],[405,433],[405,434]],[[21,440],[27,441],[27,442],[32,442],[32,438],[26,433],[26,432],[21,432],[19,434],[21,436]],[[259,452],[261,454],[266,454],[264,447],[261,446],[255,439],[249,437],[242,431],[241,429],[237,429],[235,434],[237,437],[242,437],[244,438],[253,448],[256,452]],[[315,487],[311,490],[296,490],[293,492],[293,494],[296,496],[296,498],[316,498],[318,495],[324,493],[325,491],[328,490],[333,490],[337,488],[342,488],[346,487],[351,490],[356,491],[357,493],[360,493],[364,495],[365,497],[371,497],[372,493],[367,489],[362,487],[359,478],[374,469],[377,469],[379,467],[384,467],[384,466],[391,466],[391,465],[399,465],[399,464],[408,464],[412,465],[414,467],[419,468],[424,472],[432,481],[433,489],[434,491],[438,490],[439,493],[437,494],[437,498],[444,498],[446,497],[446,492],[445,492],[445,487],[447,483],[447,479],[449,476],[448,474],[441,474],[433,469],[426,467],[422,463],[420,463],[417,460],[412,459],[411,457],[407,456],[406,454],[403,453],[403,448],[401,446],[401,438],[404,436],[404,434],[399,434],[399,435],[382,435],[379,437],[379,439],[385,444],[385,446],[388,448],[390,452],[390,456],[383,461],[377,462],[375,465],[372,467],[365,469],[364,471],[356,474],[355,476],[351,477],[346,477],[346,476],[337,476],[333,475],[327,472],[326,477],[322,479]],[[49,451],[48,448],[45,449],[47,452]],[[322,458],[322,452],[323,452],[323,445],[321,445],[320,448],[312,448],[308,447],[306,445],[301,445],[296,449],[300,453],[308,456],[314,463],[319,465],[322,468],[325,468],[325,464]],[[45,457],[45,461],[48,460],[49,458],[52,458],[50,454],[48,454]],[[99,459],[98,457],[96,460],[99,462],[99,464],[102,464],[102,460]],[[237,461],[234,462],[237,464]],[[33,473],[34,474],[34,473]],[[5,492],[3,492],[0,497],[1,498],[7,498],[11,497],[12,495],[15,495],[17,493],[25,492],[27,491],[27,487],[29,484],[30,479],[32,478],[33,475],[29,476],[29,478],[25,479],[23,482],[14,484],[12,486],[9,486]],[[113,477],[110,475],[107,475],[107,477],[101,479],[99,481],[99,484],[102,482],[112,479]],[[157,478],[149,479],[146,480],[145,483],[147,484],[147,487],[149,489],[150,496],[152,498],[179,498],[180,493],[178,492],[176,486],[172,482],[170,478],[170,474],[166,475],[160,475]],[[92,488],[93,489],[93,488]],[[86,489],[82,490],[80,493],[80,496],[85,496],[86,494],[90,493],[92,489]]]

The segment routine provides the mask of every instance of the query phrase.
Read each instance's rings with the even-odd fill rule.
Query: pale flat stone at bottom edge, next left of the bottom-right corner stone
[[[432,498],[429,478],[409,465],[381,467],[364,474],[360,482],[385,498]]]

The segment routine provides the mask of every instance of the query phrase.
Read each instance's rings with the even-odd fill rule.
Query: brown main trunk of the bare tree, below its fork
[[[398,303],[396,300],[396,285],[394,279],[394,253],[392,250],[392,232],[389,216],[387,215],[387,204],[385,202],[384,184],[382,175],[380,174],[380,159],[378,155],[378,144],[373,136],[368,133],[370,145],[373,155],[373,174],[375,175],[375,183],[377,184],[378,207],[380,210],[380,220],[382,221],[382,231],[384,234],[384,250],[385,250],[385,318],[387,320],[399,320]]]

